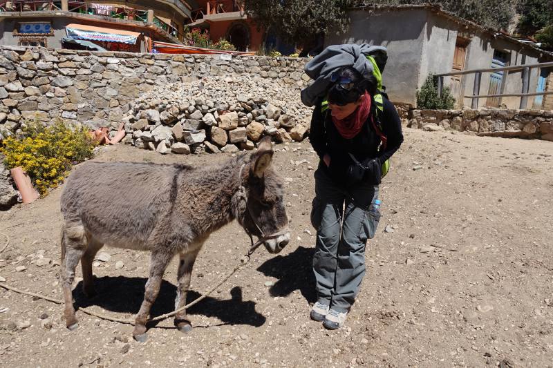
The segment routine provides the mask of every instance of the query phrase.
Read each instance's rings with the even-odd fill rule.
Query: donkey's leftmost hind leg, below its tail
[[[75,268],[86,249],[86,235],[82,224],[66,224],[62,231],[62,289],[64,291],[64,316],[68,329],[76,329],[79,324],[75,317],[71,286],[75,280]]]

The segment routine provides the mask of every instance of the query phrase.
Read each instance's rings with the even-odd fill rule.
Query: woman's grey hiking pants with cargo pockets
[[[358,184],[348,192],[319,167],[311,223],[317,229],[313,271],[318,301],[349,311],[365,274],[365,245],[380,220],[373,208],[378,186]],[[345,204],[345,210],[344,210]]]

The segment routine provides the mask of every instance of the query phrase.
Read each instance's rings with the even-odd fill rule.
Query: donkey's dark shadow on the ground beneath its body
[[[76,307],[97,306],[106,311],[118,313],[138,313],[140,304],[144,298],[144,285],[147,278],[127,278],[124,276],[104,276],[94,281],[97,296],[88,299],[82,293],[82,282],[77,284],[73,291]],[[218,294],[220,298],[223,295]],[[187,303],[196,300],[200,296],[196,291],[187,293]],[[208,296],[188,310],[189,315],[202,315],[216,317],[223,321],[223,325],[252,325],[259,327],[265,323],[266,318],[255,310],[255,302],[242,300],[242,289],[234,287],[230,291],[230,299],[220,300]],[[176,287],[174,284],[163,280],[160,293],[153,303],[151,316],[156,317],[174,311]],[[159,322],[159,321],[158,321]],[[156,322],[149,327],[157,325]]]

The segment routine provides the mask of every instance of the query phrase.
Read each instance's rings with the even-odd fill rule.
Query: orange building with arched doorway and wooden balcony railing
[[[226,39],[236,50],[259,50],[263,43],[263,31],[257,30],[255,23],[247,18],[241,1],[237,0],[197,0],[194,21],[188,28],[209,30],[213,42]]]

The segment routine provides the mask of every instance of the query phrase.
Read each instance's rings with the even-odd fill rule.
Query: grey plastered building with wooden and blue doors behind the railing
[[[416,105],[416,91],[429,74],[477,68],[518,66],[552,61],[550,53],[527,43],[461,19],[436,6],[364,6],[352,8],[347,32],[328,34],[325,46],[339,43],[370,43],[388,48],[384,85],[398,103]],[[552,79],[549,70],[532,69],[529,91],[543,90]],[[521,93],[521,70],[485,72],[480,95]],[[549,85],[551,85],[550,83]],[[471,106],[474,74],[447,77],[458,107]],[[541,107],[547,99],[528,98],[527,106]],[[520,97],[481,98],[478,106],[518,108]],[[536,106],[536,105],[540,106]]]

